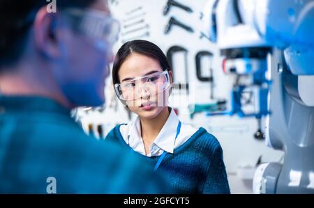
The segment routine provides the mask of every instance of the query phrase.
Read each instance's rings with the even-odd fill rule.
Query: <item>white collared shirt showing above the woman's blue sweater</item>
[[[175,139],[178,125],[179,118],[172,109],[165,125],[163,125],[163,128],[152,143],[147,157],[159,156],[163,154],[164,151],[173,154],[175,148],[188,141],[188,138],[198,130],[190,125],[184,125],[182,123],[180,133],[177,136],[177,139]],[[132,147],[135,152],[146,155],[144,142],[141,136],[139,116],[132,122],[129,122],[128,125],[121,125],[120,132],[124,141]]]

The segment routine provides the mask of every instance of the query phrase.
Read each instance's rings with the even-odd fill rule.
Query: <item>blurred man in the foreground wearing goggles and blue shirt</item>
[[[119,31],[107,3],[55,2],[0,0],[0,193],[163,192],[152,167],[70,118],[105,101]]]

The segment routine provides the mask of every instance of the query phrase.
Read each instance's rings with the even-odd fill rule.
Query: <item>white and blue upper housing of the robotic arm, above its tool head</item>
[[[314,75],[307,64],[314,57],[314,1],[216,0],[207,8],[209,37],[227,58],[261,58],[277,47],[292,74]]]

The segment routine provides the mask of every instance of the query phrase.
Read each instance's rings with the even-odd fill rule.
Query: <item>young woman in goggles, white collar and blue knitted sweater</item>
[[[172,70],[163,51],[145,40],[126,42],[114,61],[117,96],[138,116],[114,127],[107,141],[142,154],[179,193],[230,193],[223,150],[205,129],[180,122],[167,106]]]

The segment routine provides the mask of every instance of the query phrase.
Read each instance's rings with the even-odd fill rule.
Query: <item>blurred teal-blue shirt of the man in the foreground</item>
[[[47,193],[49,177],[57,193],[165,193],[141,159],[85,135],[51,99],[0,96],[0,193]]]

